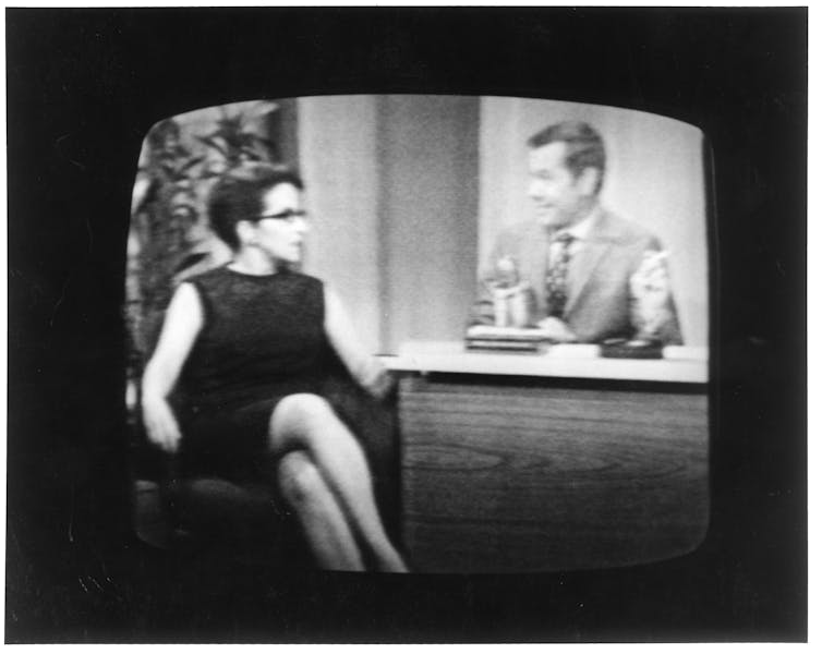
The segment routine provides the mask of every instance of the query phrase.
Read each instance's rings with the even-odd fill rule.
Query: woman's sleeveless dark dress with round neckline
[[[198,292],[204,325],[181,374],[181,472],[258,480],[277,402],[322,389],[323,282],[227,267],[188,281]]]

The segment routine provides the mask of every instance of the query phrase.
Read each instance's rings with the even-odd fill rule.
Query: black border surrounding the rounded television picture
[[[807,639],[808,12],[9,9],[7,642]],[[692,555],[533,576],[176,577],[130,541],[129,203],[157,120],[343,93],[653,111],[713,149],[712,522]]]

